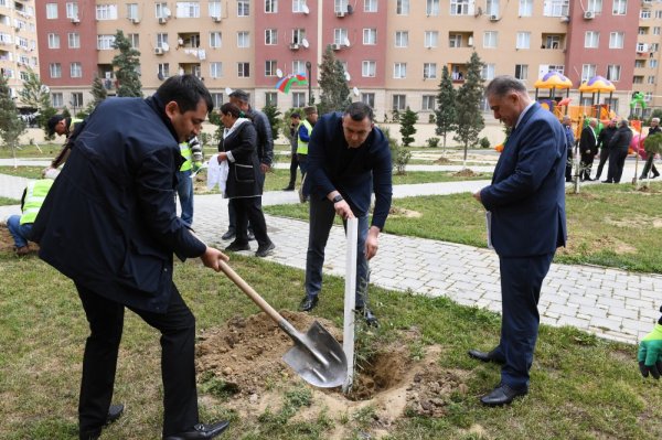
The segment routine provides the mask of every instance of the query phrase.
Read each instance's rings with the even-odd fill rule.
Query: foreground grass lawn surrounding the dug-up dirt
[[[252,257],[234,256],[231,264],[277,310],[296,309],[302,271]],[[72,282],[34,256],[18,259],[9,251],[0,253],[0,438],[75,439],[87,330]],[[340,325],[343,281],[329,276],[324,280],[324,297],[314,314]],[[175,282],[196,315],[199,333],[257,311],[229,280],[197,260],[178,264]],[[442,417],[406,412],[389,426],[378,426],[377,408],[367,406],[340,420],[311,418],[302,404],[278,411],[292,399],[291,390],[284,389],[280,401],[243,416],[227,409],[231,397],[201,393],[203,420],[229,418],[231,428],[221,438],[242,440],[323,440],[338,423],[349,432],[343,437],[348,440],[375,438],[366,436],[377,431],[387,432],[383,438],[388,440],[662,438],[660,383],[640,377],[634,346],[543,325],[531,393],[510,407],[485,408],[478,397],[499,382],[499,367],[471,361],[466,351],[496,343],[499,316],[442,298],[380,288],[371,292],[382,320],[371,333],[373,344],[399,340],[415,329],[419,337],[409,343],[412,357],[438,346],[434,363],[466,377],[466,389],[451,390]],[[211,387],[201,383],[199,388]],[[160,439],[161,399],[158,334],[127,312],[114,397],[127,410],[104,430],[103,439]],[[306,404],[324,405],[321,399]]]

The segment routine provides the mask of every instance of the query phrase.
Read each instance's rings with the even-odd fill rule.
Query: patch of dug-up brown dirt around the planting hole
[[[280,313],[300,332],[317,320],[335,339],[342,339],[342,331],[327,320],[306,313]],[[293,343],[265,313],[233,318],[223,326],[206,330],[197,344],[197,371],[201,376],[213,375],[227,384],[232,396],[221,405],[236,410],[242,418],[257,419],[267,408],[278,411],[285,405],[286,389],[307,386],[312,404],[301,408],[292,420],[310,421],[323,414],[335,427],[327,438],[344,439],[355,428],[353,416],[370,411],[369,436],[378,439],[387,436],[389,427],[405,412],[441,417],[453,394],[468,391],[465,380],[470,372],[441,368],[437,362],[440,346],[427,347],[421,361],[412,358],[414,333],[403,332],[397,342],[376,347],[376,354],[356,369],[348,396],[340,388],[314,388],[299,378],[281,359]],[[481,429],[472,427],[470,431]]]

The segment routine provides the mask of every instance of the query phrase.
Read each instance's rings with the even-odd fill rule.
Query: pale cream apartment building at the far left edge
[[[18,97],[30,69],[39,72],[34,2],[0,0],[0,74],[11,96]]]

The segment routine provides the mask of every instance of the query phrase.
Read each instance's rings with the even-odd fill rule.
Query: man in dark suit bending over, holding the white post
[[[353,103],[344,112],[322,116],[312,130],[303,183],[303,192],[310,194],[306,296],[299,310],[310,311],[318,303],[324,247],[333,217],[338,214],[343,222],[356,217],[356,310],[370,325],[377,325],[377,319],[366,303],[367,261],[377,253],[380,232],[391,210],[393,165],[388,139],[373,120],[370,106]],[[373,192],[375,208],[369,227]]]

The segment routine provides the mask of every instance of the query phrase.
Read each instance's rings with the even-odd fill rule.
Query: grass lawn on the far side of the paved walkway
[[[265,206],[308,218],[308,205]],[[662,182],[586,185],[566,195],[568,245],[554,261],[662,273]],[[395,198],[385,232],[485,247],[484,211],[468,193]]]

